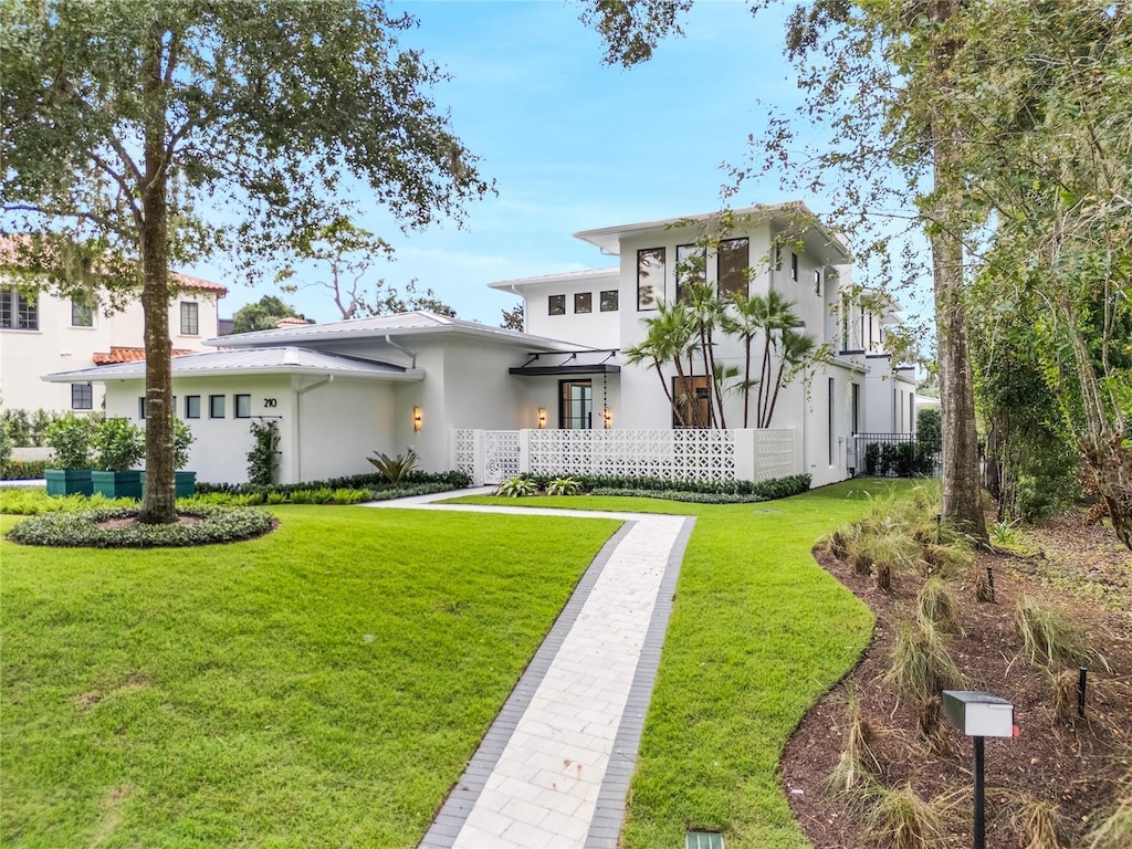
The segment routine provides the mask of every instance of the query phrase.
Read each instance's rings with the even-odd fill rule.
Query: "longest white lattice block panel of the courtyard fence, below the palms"
[[[735,480],[729,430],[531,430],[534,474],[601,474],[666,480]]]

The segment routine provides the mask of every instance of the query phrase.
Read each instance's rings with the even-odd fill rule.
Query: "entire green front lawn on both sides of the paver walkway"
[[[506,500],[697,516],[627,846],[683,846],[688,826],[806,846],[779,756],[873,624],[811,549],[891,487],[729,506]],[[273,511],[278,531],[231,546],[3,543],[6,846],[415,844],[617,526]]]

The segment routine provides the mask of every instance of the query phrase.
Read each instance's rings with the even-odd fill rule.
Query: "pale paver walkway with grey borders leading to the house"
[[[615,849],[695,520],[432,503],[452,495],[370,506],[589,516],[625,524],[586,571],[420,846]]]

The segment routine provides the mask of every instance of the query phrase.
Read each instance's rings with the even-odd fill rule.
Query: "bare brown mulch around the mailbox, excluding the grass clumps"
[[[960,603],[962,634],[947,641],[952,659],[970,689],[988,691],[1014,703],[1021,736],[987,739],[987,846],[1024,846],[1022,800],[1057,805],[1062,844],[1078,846],[1108,811],[1116,779],[1132,753],[1132,556],[1110,532],[1064,518],[1027,532],[1034,556],[980,555],[975,568],[993,567],[995,603],[975,600],[974,575],[952,582]],[[883,683],[901,621],[915,615],[923,578],[893,577],[882,592],[872,577],[815,551],[832,573],[876,614],[872,645],[858,666],[804,719],[782,758],[782,784],[794,816],[815,849],[875,846],[858,817],[829,792],[827,777],[841,754],[847,694],[859,694],[865,717],[878,731],[875,751],[881,779],[894,787],[907,780],[921,798],[952,803],[949,846],[971,844],[971,740],[943,720],[942,746],[933,749],[917,732],[916,705],[898,701]],[[1057,723],[1046,675],[1020,657],[1014,626],[1021,594],[1063,607],[1083,627],[1089,645],[1109,669],[1089,670],[1086,717]],[[1086,598],[1082,598],[1086,597]],[[1088,600],[1087,600],[1088,599]],[[1096,666],[1096,664],[1095,664]]]

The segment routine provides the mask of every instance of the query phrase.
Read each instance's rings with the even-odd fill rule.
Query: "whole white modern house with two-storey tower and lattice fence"
[[[223,350],[172,366],[178,414],[197,437],[189,468],[199,480],[246,480],[251,420],[272,419],[281,482],[371,471],[374,452],[409,447],[427,470],[481,481],[521,471],[842,480],[856,462],[850,435],[911,430],[914,376],[883,353],[899,312],[855,290],[848,249],[803,205],[724,221],[577,233],[616,265],[491,284],[523,299],[525,333],[410,312],[208,340]],[[782,389],[767,428],[741,427],[739,393],[724,397],[728,428],[683,427],[661,380],[697,393],[706,375],[681,384],[671,365],[658,375],[624,355],[644,338],[643,319],[679,298],[689,258],[720,293],[780,291],[824,346],[821,363]],[[741,343],[718,342],[717,362],[739,367]],[[144,419],[142,362],[44,379],[102,384],[109,415]]]

